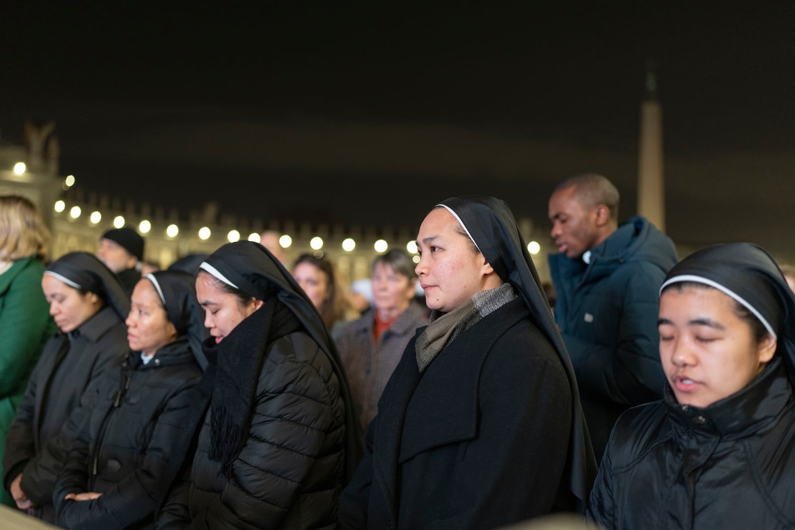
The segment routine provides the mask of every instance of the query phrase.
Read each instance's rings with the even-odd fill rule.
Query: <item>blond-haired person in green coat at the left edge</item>
[[[56,331],[41,291],[48,242],[29,199],[0,196],[0,462],[30,372]],[[0,501],[16,506],[7,488],[0,489]]]

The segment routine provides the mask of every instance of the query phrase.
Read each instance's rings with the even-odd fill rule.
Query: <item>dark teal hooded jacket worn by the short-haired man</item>
[[[591,250],[589,264],[549,256],[555,320],[598,459],[623,411],[662,396],[657,308],[662,280],[676,263],[673,242],[642,217]]]

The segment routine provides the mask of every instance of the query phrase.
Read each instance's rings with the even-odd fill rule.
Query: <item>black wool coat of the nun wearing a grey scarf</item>
[[[575,509],[568,376],[524,300],[463,331],[424,373],[415,341],[343,492],[343,528],[498,528]]]

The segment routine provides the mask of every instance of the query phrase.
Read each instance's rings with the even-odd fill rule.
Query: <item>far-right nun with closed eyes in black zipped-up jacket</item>
[[[662,284],[664,398],[613,428],[604,528],[795,528],[795,297],[765,250],[711,246]]]

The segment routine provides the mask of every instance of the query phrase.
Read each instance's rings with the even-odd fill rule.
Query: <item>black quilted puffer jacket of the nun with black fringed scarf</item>
[[[208,413],[191,485],[175,489],[157,528],[335,528],[344,474],[339,381],[304,331],[271,342],[264,357],[231,479],[207,458]]]

